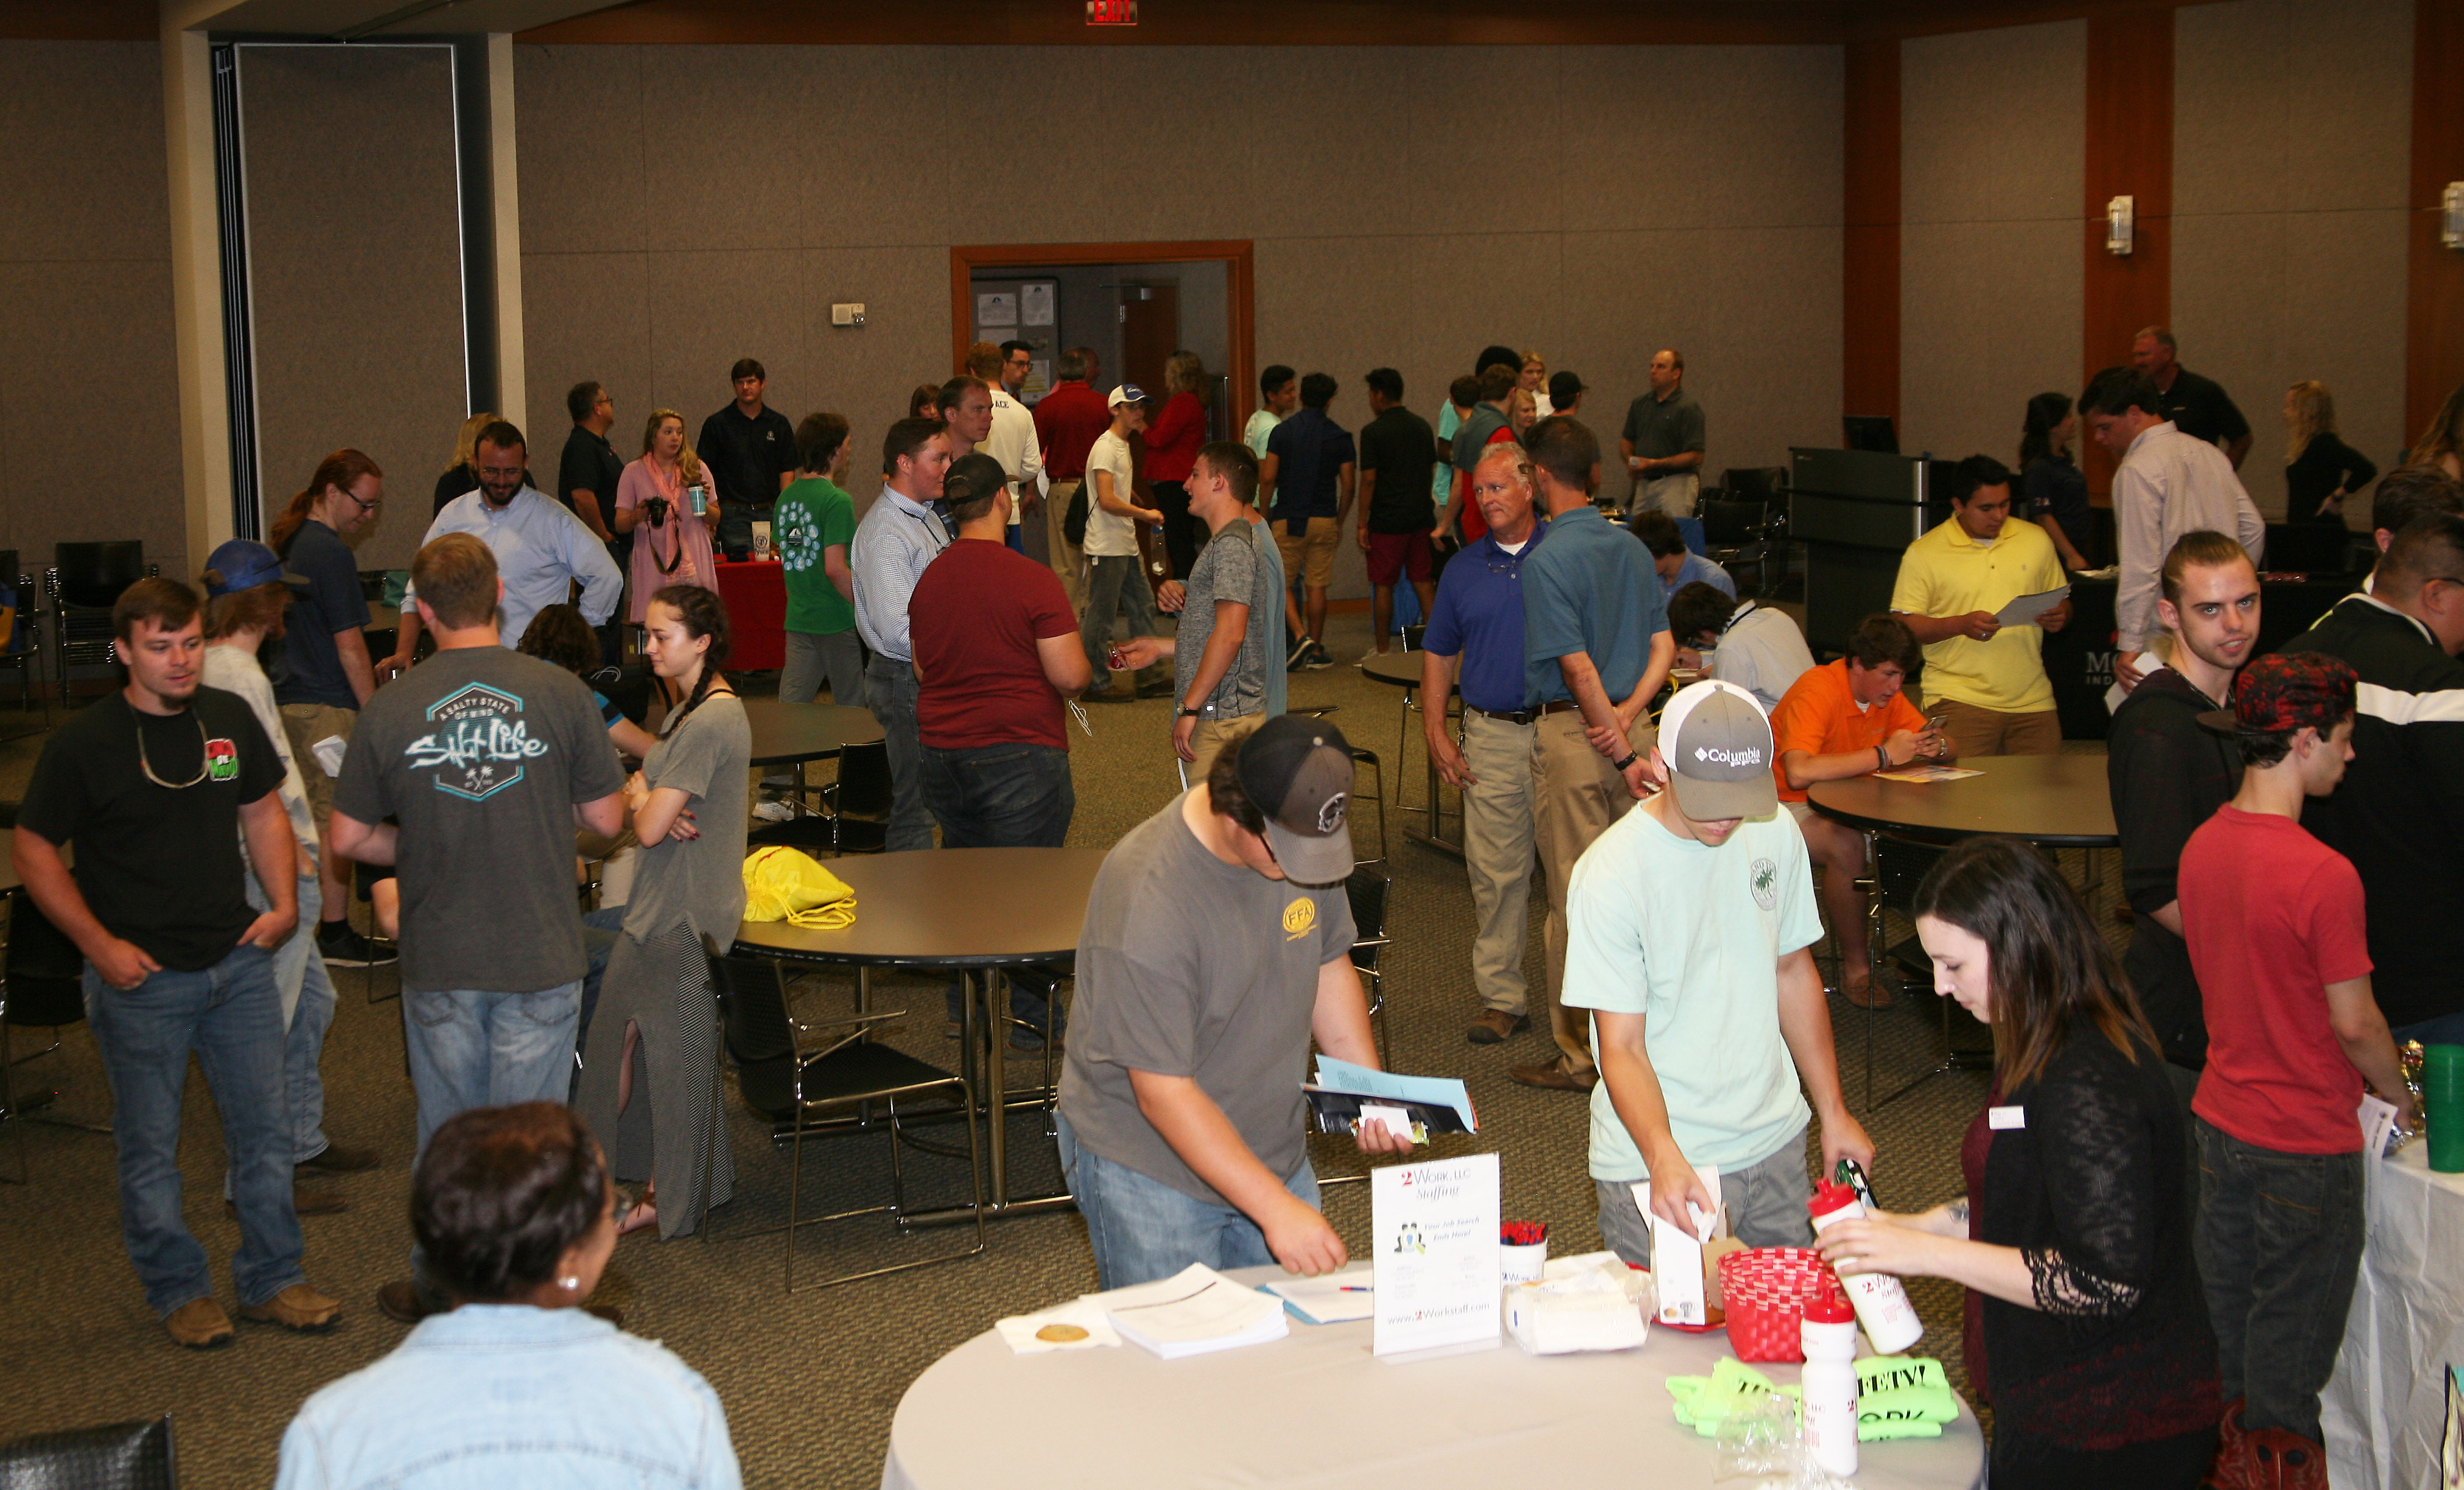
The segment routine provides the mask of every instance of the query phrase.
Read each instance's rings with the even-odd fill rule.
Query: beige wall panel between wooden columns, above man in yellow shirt
[[[1900,448],[2018,458],[2080,387],[2087,22],[1900,49]]]

